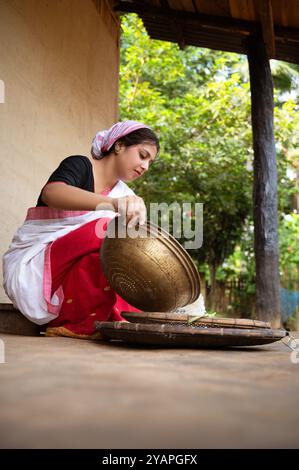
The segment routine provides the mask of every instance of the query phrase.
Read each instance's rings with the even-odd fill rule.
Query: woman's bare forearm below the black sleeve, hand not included
[[[111,197],[59,182],[46,185],[42,191],[41,199],[47,206],[55,209],[81,211],[92,211],[97,208],[115,210],[116,202]],[[98,207],[99,204],[100,207]]]

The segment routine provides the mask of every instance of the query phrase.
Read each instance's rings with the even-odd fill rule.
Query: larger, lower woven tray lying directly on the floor
[[[282,329],[209,328],[167,323],[96,322],[96,329],[107,340],[117,339],[135,344],[192,348],[256,346],[273,343],[286,336],[286,331]]]

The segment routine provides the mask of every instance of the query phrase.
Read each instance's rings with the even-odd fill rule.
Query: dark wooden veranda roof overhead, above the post
[[[268,57],[299,63],[298,0],[120,0],[114,10],[135,12],[150,37],[246,54],[245,40],[262,31]]]

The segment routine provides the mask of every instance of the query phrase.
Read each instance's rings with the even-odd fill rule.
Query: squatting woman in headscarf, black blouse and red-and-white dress
[[[29,320],[48,324],[47,336],[96,339],[95,321],[120,321],[133,309],[108,285],[99,249],[119,213],[128,226],[145,222],[144,202],[126,182],[141,177],[158,151],[148,126],[118,122],[96,134],[90,158],[64,159],[28,209],[3,257],[4,288]]]

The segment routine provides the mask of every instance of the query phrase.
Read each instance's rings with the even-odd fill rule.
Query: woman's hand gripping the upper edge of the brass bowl
[[[132,195],[115,198],[113,206],[116,212],[126,218],[128,228],[145,224],[146,207],[141,197]]]

